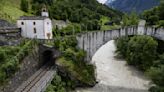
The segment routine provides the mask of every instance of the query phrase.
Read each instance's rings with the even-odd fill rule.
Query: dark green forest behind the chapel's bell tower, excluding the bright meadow
[[[39,15],[43,5],[48,7],[51,18],[78,23],[83,30],[99,30],[103,16],[111,20],[121,18],[120,12],[99,4],[96,0],[33,0],[33,13]]]

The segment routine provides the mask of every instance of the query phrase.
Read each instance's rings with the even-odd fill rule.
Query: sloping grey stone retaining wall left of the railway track
[[[10,79],[9,84],[0,92],[14,92],[24,81],[32,76],[41,66],[39,65],[38,47],[24,58],[20,70]]]

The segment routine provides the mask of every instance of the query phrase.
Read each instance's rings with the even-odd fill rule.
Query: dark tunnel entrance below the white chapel
[[[46,50],[42,53],[42,65],[45,65],[45,64],[50,64],[50,65],[53,65],[53,61],[54,61],[54,58],[53,58],[53,51],[51,50]]]

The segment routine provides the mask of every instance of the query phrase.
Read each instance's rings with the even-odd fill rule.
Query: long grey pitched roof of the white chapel
[[[44,20],[48,17],[44,16],[21,16],[18,20]]]

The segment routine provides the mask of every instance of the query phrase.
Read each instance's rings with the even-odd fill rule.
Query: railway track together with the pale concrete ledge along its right
[[[50,66],[49,64],[43,66],[32,77],[24,82],[15,92],[41,92],[44,88],[39,86],[42,86],[43,80],[46,80],[46,75],[53,76],[52,72],[55,72],[54,69],[55,67]],[[47,82],[51,80],[52,78],[49,78]]]

